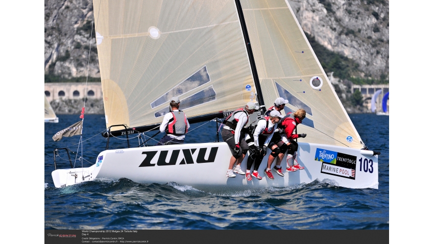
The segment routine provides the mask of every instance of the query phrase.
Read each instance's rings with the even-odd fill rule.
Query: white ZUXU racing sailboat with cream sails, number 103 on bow
[[[378,153],[367,150],[287,0],[94,0],[93,9],[107,147],[90,167],[55,170],[56,187],[128,178],[197,189],[315,180],[378,188]],[[261,108],[254,120],[276,97],[289,101],[285,113],[305,109],[297,129],[307,134],[298,139],[305,169],[248,182],[225,177],[231,157],[225,142],[110,149],[113,136],[158,128],[175,95],[190,124],[227,117],[250,101]],[[243,170],[246,164],[247,156]]]

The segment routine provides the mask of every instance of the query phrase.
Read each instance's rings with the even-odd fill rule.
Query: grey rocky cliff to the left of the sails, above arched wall
[[[100,77],[91,0],[45,0],[45,74]],[[90,49],[90,58],[89,58]]]

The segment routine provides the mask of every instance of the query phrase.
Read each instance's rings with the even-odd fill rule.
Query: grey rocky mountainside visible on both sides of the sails
[[[388,77],[389,0],[289,3],[305,33],[357,63],[359,72],[353,75]],[[90,40],[92,17],[91,0],[45,0],[45,74],[85,77],[89,60],[89,76],[100,77],[94,31]]]

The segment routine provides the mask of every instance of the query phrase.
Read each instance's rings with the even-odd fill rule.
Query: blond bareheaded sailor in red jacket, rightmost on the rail
[[[283,177],[280,163],[282,162],[283,155],[285,154],[286,150],[288,150],[288,156],[286,160],[286,172],[296,172],[299,169],[304,169],[304,167],[297,162],[298,143],[294,139],[299,137],[306,137],[306,134],[295,134],[295,129],[297,125],[301,124],[301,121],[305,117],[306,111],[304,109],[298,109],[294,113],[287,113],[277,125],[278,129],[283,130],[282,134],[279,135],[279,133],[275,133],[273,138],[271,139],[272,142],[270,143],[269,147],[271,147],[272,150],[280,148],[280,152],[276,160],[276,165],[273,167],[273,171],[276,172],[279,176]],[[266,169],[266,175],[272,179],[274,179],[274,177],[271,174],[270,167],[273,161],[274,158],[269,157]]]

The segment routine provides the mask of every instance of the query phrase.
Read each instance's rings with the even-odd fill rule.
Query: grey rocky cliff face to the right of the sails
[[[354,60],[359,76],[389,75],[389,0],[290,0],[303,31]]]

